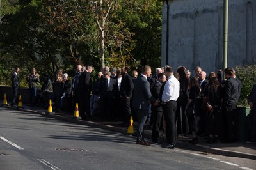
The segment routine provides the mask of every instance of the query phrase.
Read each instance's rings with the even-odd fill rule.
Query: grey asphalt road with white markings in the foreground
[[[255,169],[256,161],[136,139],[0,107],[0,169]]]

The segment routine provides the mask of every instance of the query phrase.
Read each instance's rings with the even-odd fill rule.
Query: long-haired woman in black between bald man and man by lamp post
[[[209,139],[206,143],[219,143],[218,136],[221,134],[221,105],[223,102],[223,88],[221,87],[218,78],[212,77],[209,79],[209,86],[205,87],[205,100],[209,100],[213,110],[207,112],[205,116],[205,132],[209,134]]]

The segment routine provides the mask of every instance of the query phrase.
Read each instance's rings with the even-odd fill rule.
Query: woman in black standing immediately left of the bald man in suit
[[[197,144],[198,138],[196,134],[199,130],[199,121],[200,121],[200,109],[201,109],[201,88],[199,81],[196,77],[191,78],[191,88],[189,91],[189,106],[193,107],[195,105],[195,114],[189,115],[189,130],[191,130],[193,139],[189,141],[191,144]]]

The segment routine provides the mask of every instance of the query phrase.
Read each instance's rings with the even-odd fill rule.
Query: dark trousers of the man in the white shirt
[[[175,112],[177,109],[177,102],[170,100],[163,106],[164,119],[166,121],[166,139],[169,144],[176,144],[176,121]]]

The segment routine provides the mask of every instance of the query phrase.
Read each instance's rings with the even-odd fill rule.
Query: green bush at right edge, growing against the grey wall
[[[246,106],[247,98],[256,80],[256,65],[236,66],[237,78],[241,81],[239,105]]]

